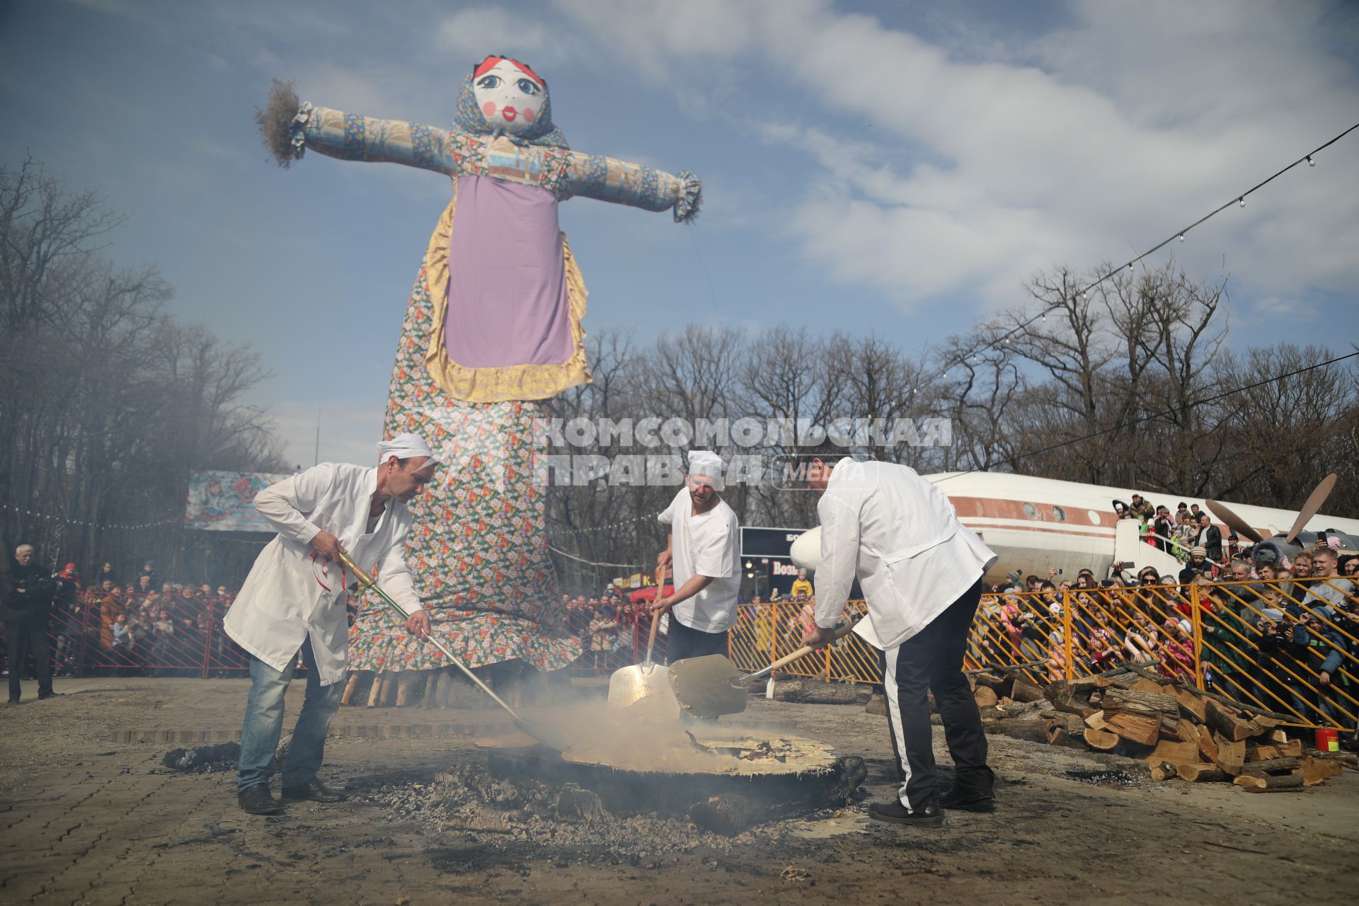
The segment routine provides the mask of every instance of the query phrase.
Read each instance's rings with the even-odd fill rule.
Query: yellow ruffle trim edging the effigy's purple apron
[[[466,402],[504,402],[508,399],[546,399],[576,384],[590,383],[590,363],[586,361],[584,277],[571,254],[567,234],[561,234],[561,251],[567,270],[567,316],[571,319],[571,345],[575,352],[560,365],[504,365],[501,368],[467,368],[448,357],[444,342],[444,322],[448,314],[448,238],[453,235],[453,215],[458,206],[458,187],[444,208],[439,224],[429,236],[425,251],[425,280],[434,300],[434,330],[425,350],[425,367],[434,382],[454,399]]]

